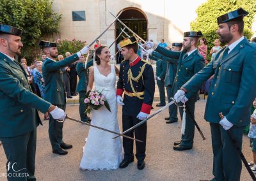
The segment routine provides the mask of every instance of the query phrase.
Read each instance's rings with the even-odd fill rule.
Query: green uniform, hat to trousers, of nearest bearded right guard
[[[218,17],[218,24],[248,14],[242,10],[239,8]],[[243,129],[250,122],[250,106],[256,97],[256,69],[253,66],[256,64],[256,44],[243,36],[234,43],[238,43],[234,49],[230,51],[230,45],[221,48],[214,61],[182,86],[190,92],[214,74],[204,115],[211,126],[214,180],[236,181],[241,175],[241,158],[227,131],[219,124],[219,113],[234,125],[230,131],[241,148]]]

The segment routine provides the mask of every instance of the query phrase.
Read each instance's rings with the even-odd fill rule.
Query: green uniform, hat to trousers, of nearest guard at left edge
[[[0,33],[20,36],[22,30],[0,25]],[[26,71],[19,62],[1,52],[0,72],[0,141],[7,158],[6,166],[10,163],[16,171],[20,170],[7,170],[11,175],[8,180],[35,180],[36,127],[42,125],[38,110],[47,112],[51,103],[33,94]]]

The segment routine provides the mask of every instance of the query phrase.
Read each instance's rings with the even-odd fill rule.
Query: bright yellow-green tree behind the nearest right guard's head
[[[249,15],[244,17],[244,36],[250,40],[253,34],[253,17],[256,13],[255,0],[208,0],[197,8],[197,18],[191,22],[191,30],[202,31],[208,43],[208,50],[210,51],[214,46],[214,40],[218,38],[218,34],[216,34],[216,30],[218,29],[217,17],[240,7],[249,12]],[[209,53],[207,54],[207,60],[211,60]]]

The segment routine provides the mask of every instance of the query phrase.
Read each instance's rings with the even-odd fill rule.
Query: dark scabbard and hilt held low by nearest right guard
[[[219,113],[219,115],[220,115],[221,119],[224,118],[222,113]],[[230,128],[230,129],[232,129],[232,128]],[[237,143],[236,139],[234,138],[230,129],[228,129],[227,132],[228,132],[228,135],[229,135],[234,147],[236,148],[237,154],[240,156],[241,160],[243,161],[246,170],[248,171],[248,173],[252,177],[252,180],[256,180],[256,177],[255,177],[254,173],[252,172],[250,166],[248,165],[248,162],[246,161],[246,158],[244,157],[244,154],[243,154],[239,144]]]

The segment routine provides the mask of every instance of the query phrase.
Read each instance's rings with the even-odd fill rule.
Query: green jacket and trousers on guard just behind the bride
[[[81,121],[88,122],[88,116],[85,113],[86,105],[84,99],[86,96],[86,89],[88,85],[88,68],[93,66],[93,60],[89,61],[86,65],[83,62],[76,64],[76,71],[79,77],[76,91],[79,93],[79,115]]]

